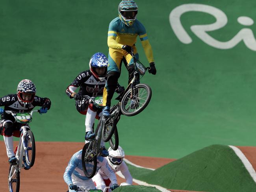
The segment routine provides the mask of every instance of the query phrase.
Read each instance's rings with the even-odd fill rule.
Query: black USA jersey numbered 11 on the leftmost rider
[[[50,109],[51,101],[48,98],[35,96],[33,102],[27,108],[20,104],[17,94],[8,94],[0,98],[0,106],[4,106],[4,111],[10,110],[17,113],[29,113],[36,106],[47,107],[47,109]]]

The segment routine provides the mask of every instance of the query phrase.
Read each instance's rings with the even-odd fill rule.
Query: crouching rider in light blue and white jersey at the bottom
[[[97,157],[96,173],[99,169],[108,175],[109,179],[113,183],[113,189],[117,188],[117,177],[115,176],[115,173],[111,170],[111,168],[109,168],[107,160],[100,156]],[[69,185],[69,192],[76,192],[78,186],[84,186],[86,189],[96,189],[93,180],[86,177],[83,173],[82,150],[76,152],[72,156],[63,178],[67,185]]]

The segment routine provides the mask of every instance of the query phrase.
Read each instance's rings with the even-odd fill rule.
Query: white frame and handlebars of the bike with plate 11
[[[30,113],[30,116],[32,118],[32,115],[34,112],[38,112],[38,110],[33,110]],[[12,111],[6,111],[7,114],[11,114],[14,118],[15,118],[15,113],[13,113]],[[11,166],[11,170],[10,170],[10,174],[13,173],[12,175],[9,175],[9,181],[11,181],[11,179],[13,179],[13,177],[15,177],[15,174],[23,167],[23,163],[22,163],[22,158],[23,158],[23,153],[25,150],[27,150],[27,146],[25,144],[25,137],[26,137],[26,133],[27,133],[27,128],[28,125],[25,124],[24,126],[21,127],[21,133],[20,133],[20,139],[19,139],[19,144],[17,147],[17,151],[16,151],[16,155],[15,157],[18,160],[18,164],[15,166]],[[13,169],[16,169],[15,172],[13,172]]]

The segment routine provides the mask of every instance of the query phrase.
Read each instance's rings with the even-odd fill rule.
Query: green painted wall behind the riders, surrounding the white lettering
[[[31,79],[37,95],[49,97],[52,108],[35,114],[31,123],[37,141],[83,142],[84,119],[65,89],[95,52],[108,54],[109,22],[117,17],[119,0],[2,0],[0,6],[0,95],[15,93],[21,79]],[[122,116],[120,145],[129,155],[180,158],[211,144],[254,146],[256,135],[255,51],[243,42],[234,48],[213,48],[190,30],[215,18],[191,11],[181,17],[193,40],[183,44],[174,34],[169,14],[188,3],[207,4],[228,17],[225,27],[208,32],[229,41],[245,26],[239,16],[256,18],[255,1],[137,0],[140,20],[152,45],[157,75],[141,80],[152,99],[141,114]],[[255,31],[255,24],[246,28]],[[141,43],[141,62],[147,64]],[[119,83],[126,85],[123,68]],[[2,137],[0,138],[2,139]]]

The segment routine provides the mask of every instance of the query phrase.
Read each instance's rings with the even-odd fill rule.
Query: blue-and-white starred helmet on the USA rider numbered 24
[[[93,76],[100,81],[104,81],[104,79],[106,78],[107,68],[108,68],[108,58],[106,57],[106,55],[100,52],[94,54],[91,57],[89,66]],[[105,68],[104,74],[98,74],[95,68]]]

